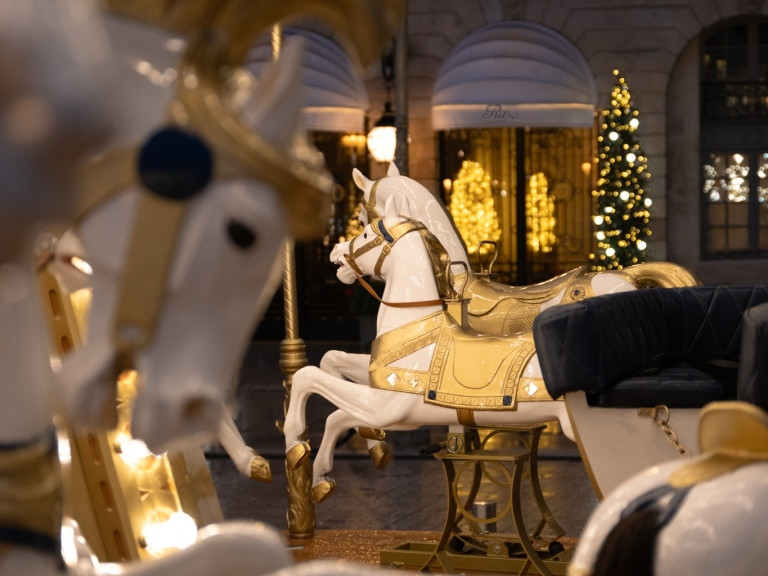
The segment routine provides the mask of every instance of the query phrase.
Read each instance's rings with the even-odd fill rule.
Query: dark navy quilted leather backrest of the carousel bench
[[[738,361],[744,312],[768,285],[648,288],[555,306],[534,320],[547,391],[598,393],[650,368]]]

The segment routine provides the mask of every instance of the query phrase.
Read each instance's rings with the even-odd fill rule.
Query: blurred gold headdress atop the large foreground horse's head
[[[227,82],[245,60],[254,39],[274,24],[298,17],[325,21],[361,65],[378,58],[394,34],[403,0],[101,0],[110,12],[184,35],[169,114],[173,124],[200,133],[234,160],[238,171],[274,185],[296,238],[319,236],[329,212],[333,178],[306,137],[278,150],[251,130],[226,99]],[[114,168],[114,165],[113,165]],[[112,170],[114,174],[114,170]],[[106,194],[86,192],[89,206]],[[89,198],[88,196],[95,196]]]

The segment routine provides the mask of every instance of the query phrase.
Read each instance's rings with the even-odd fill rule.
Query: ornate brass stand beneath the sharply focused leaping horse
[[[570,552],[557,541],[565,534],[544,500],[538,478],[538,445],[545,424],[515,426],[494,430],[470,428],[470,448],[451,450],[463,442],[447,441],[437,454],[445,471],[447,510],[443,532],[437,543],[406,543],[381,552],[382,564],[420,566],[427,572],[437,562],[446,572],[477,570],[526,574],[530,569],[544,576],[566,573]],[[479,438],[482,437],[482,440]],[[509,440],[513,440],[510,442]],[[521,509],[520,487],[526,464],[534,501],[541,517],[528,533]],[[460,480],[469,473],[469,488],[461,493]],[[481,485],[492,483],[505,494],[505,504],[498,513],[482,516],[473,507]],[[496,532],[497,523],[509,523],[511,531]],[[544,540],[542,531],[549,526],[554,538]],[[506,524],[505,524],[506,527]],[[544,550],[534,546],[534,539],[548,544]],[[547,542],[548,540],[548,542]]]

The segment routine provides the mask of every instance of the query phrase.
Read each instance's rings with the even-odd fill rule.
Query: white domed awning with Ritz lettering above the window
[[[594,76],[573,44],[539,24],[499,22],[448,55],[435,82],[432,124],[592,126],[596,103]]]

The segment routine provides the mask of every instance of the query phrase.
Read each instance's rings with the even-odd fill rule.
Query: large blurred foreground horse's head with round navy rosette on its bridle
[[[223,65],[216,35],[105,22],[125,97],[79,180],[93,301],[62,389],[73,425],[109,427],[117,376],[136,370],[131,433],[162,451],[215,435],[285,237],[322,229],[332,179],[298,124],[300,44],[257,82]]]

